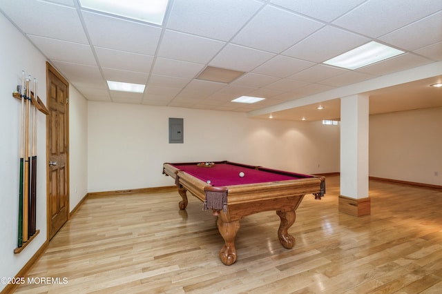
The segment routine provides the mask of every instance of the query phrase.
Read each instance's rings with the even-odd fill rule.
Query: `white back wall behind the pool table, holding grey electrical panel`
[[[169,144],[169,117],[184,119],[184,144]],[[164,162],[217,160],[336,172],[339,128],[237,112],[88,102],[88,192],[170,186]]]

